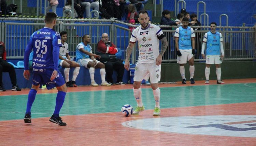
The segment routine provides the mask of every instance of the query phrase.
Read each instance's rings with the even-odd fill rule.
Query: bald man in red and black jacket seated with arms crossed
[[[106,68],[106,80],[109,84],[113,84],[113,70],[117,72],[117,82],[116,85],[125,85],[123,80],[124,75],[124,64],[121,62],[120,59],[116,58],[116,53],[118,49],[114,43],[109,41],[109,35],[103,33],[101,36],[101,40],[97,44],[96,54],[100,55],[100,62],[104,63]]]

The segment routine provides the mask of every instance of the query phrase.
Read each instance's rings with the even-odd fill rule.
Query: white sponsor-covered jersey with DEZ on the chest
[[[141,63],[154,63],[159,55],[159,37],[163,35],[159,26],[148,24],[147,28],[141,26],[133,30],[130,43],[138,41],[139,59]]]

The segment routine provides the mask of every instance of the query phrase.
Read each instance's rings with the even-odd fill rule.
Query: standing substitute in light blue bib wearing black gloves
[[[175,30],[175,45],[177,50],[177,63],[180,64],[180,73],[182,77],[182,84],[186,84],[185,78],[185,67],[184,65],[189,62],[189,72],[190,72],[190,83],[195,84],[194,81],[194,55],[195,51],[195,33],[192,28],[188,26],[189,20],[184,17],[182,19],[182,26]],[[192,42],[192,46],[191,46]]]

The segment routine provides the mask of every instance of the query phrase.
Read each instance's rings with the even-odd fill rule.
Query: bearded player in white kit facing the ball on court
[[[145,110],[141,99],[141,81],[147,74],[150,75],[151,87],[155,98],[155,109],[153,115],[160,115],[160,89],[158,81],[161,78],[162,55],[165,53],[168,42],[165,34],[154,24],[149,24],[148,13],[145,10],[139,12],[140,26],[133,30],[129,45],[126,50],[125,69],[129,70],[129,58],[135,43],[139,43],[139,58],[134,72],[133,95],[137,101],[137,108],[132,115],[138,115]],[[161,40],[161,52],[159,53],[159,40]]]

